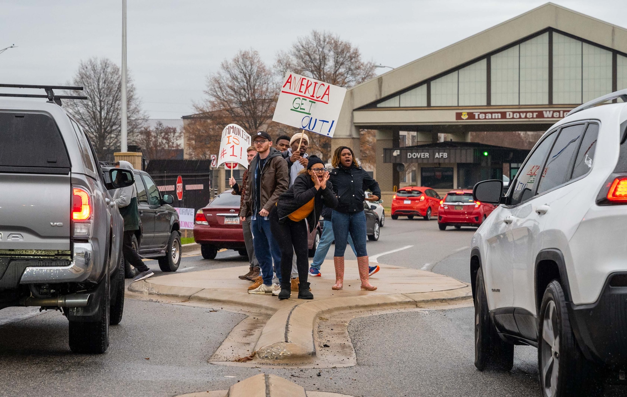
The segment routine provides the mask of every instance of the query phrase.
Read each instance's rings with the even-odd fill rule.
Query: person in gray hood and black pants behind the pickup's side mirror
[[[115,163],[116,168],[133,169],[133,165],[128,161],[120,160]],[[154,273],[145,265],[137,251],[133,249],[132,241],[135,231],[139,230],[139,209],[137,209],[137,190],[135,184],[115,190],[113,201],[120,210],[120,215],[124,218],[124,240],[122,240],[122,253],[124,260],[133,265],[139,274],[135,276],[133,282],[144,280],[153,276]],[[139,247],[137,247],[139,248]]]

